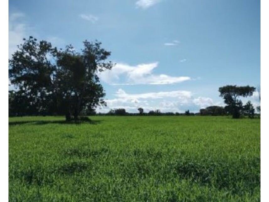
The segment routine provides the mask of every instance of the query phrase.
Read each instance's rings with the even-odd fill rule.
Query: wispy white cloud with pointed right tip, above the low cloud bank
[[[136,85],[136,84],[174,84],[182,81],[191,80],[187,76],[168,76],[166,74],[153,74],[153,69],[158,66],[158,62],[148,64],[138,64],[130,66],[124,63],[116,64],[110,71],[100,73],[100,78],[106,83],[112,85]],[[124,76],[125,83],[115,83]]]

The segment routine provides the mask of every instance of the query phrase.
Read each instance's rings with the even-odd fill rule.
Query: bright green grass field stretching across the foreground
[[[9,118],[9,201],[260,201],[260,119]]]

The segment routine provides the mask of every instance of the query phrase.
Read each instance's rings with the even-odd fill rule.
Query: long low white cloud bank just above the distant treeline
[[[130,94],[118,89],[114,96],[114,99],[106,100],[107,106],[99,108],[97,112],[109,112],[110,109],[125,108],[127,112],[137,113],[137,109],[142,107],[144,112],[159,109],[161,112],[184,113],[186,110],[199,112],[201,108],[218,105],[208,97],[195,98],[192,92],[187,90]]]

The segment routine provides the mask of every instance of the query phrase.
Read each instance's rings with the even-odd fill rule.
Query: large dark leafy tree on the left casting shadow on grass
[[[83,44],[77,52],[71,45],[58,50],[32,36],[24,39],[9,60],[9,79],[17,88],[15,97],[36,112],[65,114],[67,120],[72,115],[77,119],[82,110],[105,105],[98,73],[113,67],[106,61],[110,52],[98,41]]]

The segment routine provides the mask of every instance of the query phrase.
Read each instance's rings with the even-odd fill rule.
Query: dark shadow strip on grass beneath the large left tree
[[[78,120],[78,121],[65,121],[65,120],[55,120],[55,121],[13,121],[13,122],[8,122],[9,126],[12,125],[22,125],[22,124],[33,124],[33,125],[45,125],[45,124],[49,124],[49,123],[56,123],[56,124],[81,124],[81,123],[89,123],[89,124],[100,124],[102,123],[103,120]]]

